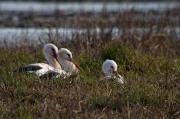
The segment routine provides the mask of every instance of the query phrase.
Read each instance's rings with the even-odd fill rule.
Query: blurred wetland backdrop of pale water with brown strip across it
[[[72,40],[81,34],[162,32],[180,38],[180,2],[156,1],[1,1],[0,41],[40,43],[49,34]]]

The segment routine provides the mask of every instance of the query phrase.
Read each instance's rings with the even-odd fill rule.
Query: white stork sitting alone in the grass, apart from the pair
[[[102,71],[105,79],[115,79],[117,82],[124,84],[124,78],[117,72],[117,64],[114,60],[107,59],[102,65]]]

